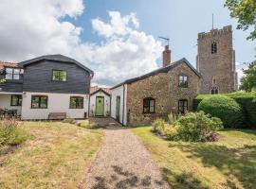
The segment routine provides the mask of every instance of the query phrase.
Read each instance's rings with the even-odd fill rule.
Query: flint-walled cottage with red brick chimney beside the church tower
[[[171,51],[166,45],[161,68],[111,89],[111,116],[123,125],[136,125],[167,117],[170,112],[190,111],[199,80],[200,74],[188,60],[171,63]]]

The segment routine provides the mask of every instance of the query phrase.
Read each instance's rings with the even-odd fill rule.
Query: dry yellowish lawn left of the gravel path
[[[61,122],[23,122],[22,128],[28,140],[0,165],[0,188],[77,188],[101,145],[101,130]]]

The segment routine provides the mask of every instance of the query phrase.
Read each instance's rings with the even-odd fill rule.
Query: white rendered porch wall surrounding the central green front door
[[[96,96],[104,97],[104,116],[109,115],[110,113],[110,96],[102,92],[97,94],[90,95],[90,116],[95,115],[96,113]]]

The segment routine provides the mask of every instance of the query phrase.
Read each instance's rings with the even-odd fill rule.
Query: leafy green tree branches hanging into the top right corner
[[[238,19],[238,29],[247,30],[252,27],[247,40],[256,39],[256,1],[255,0],[226,0],[230,16]]]

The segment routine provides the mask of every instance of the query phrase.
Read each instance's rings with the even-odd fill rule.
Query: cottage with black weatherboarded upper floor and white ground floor
[[[94,73],[77,60],[47,55],[19,63],[0,62],[0,109],[24,120],[86,118]]]

